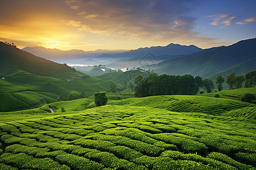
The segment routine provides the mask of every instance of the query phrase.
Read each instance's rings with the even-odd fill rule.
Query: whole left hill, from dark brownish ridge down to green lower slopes
[[[57,101],[60,94],[67,99],[72,91],[84,91],[90,96],[108,90],[111,83],[2,42],[0,77],[0,111],[35,108]]]

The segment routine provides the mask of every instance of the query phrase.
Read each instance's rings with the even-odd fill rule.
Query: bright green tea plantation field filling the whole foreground
[[[33,114],[12,112],[19,120],[3,118],[0,169],[256,169],[255,105],[153,96],[79,107],[92,102],[51,103],[56,113],[44,105]]]

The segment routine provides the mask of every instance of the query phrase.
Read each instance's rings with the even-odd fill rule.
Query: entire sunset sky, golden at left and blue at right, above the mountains
[[[200,48],[256,37],[255,0],[0,0],[0,41],[18,48]]]

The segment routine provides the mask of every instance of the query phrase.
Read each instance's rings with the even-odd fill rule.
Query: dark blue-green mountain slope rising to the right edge
[[[219,71],[229,69],[241,62],[253,59],[256,56],[256,39],[242,40],[230,46],[204,49],[200,52],[185,55],[150,65],[150,69],[160,74],[199,75],[206,78]],[[256,66],[253,66],[256,70]]]

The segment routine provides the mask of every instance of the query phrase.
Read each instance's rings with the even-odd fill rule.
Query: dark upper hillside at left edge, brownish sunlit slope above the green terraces
[[[36,57],[31,53],[0,42],[0,76],[9,76],[9,74],[13,74],[16,70],[59,79],[85,75],[65,64],[61,65],[41,57]]]

